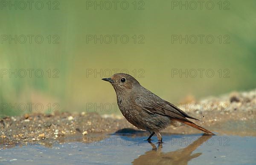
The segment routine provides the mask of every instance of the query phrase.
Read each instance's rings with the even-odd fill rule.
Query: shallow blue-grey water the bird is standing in
[[[163,134],[163,145],[145,141],[147,134],[111,134],[52,141],[46,147],[29,143],[5,148],[0,164],[254,164],[256,137]]]

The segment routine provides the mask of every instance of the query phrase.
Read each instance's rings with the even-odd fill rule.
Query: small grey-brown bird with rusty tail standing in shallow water
[[[189,116],[172,103],[148,91],[129,74],[117,73],[102,80],[110,82],[115,89],[118,107],[124,117],[137,128],[150,132],[148,141],[156,134],[158,143],[162,143],[160,130],[168,125],[179,125],[179,123],[184,123],[213,135],[211,131],[186,118],[198,119]]]

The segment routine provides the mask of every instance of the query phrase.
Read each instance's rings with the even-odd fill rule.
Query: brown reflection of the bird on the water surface
[[[132,162],[134,165],[141,165],[141,164],[182,164],[186,165],[191,159],[194,159],[198,156],[200,156],[202,153],[195,153],[192,154],[193,151],[195,151],[196,148],[201,146],[204,142],[206,142],[209,138],[212,136],[203,135],[194,142],[192,142],[190,145],[188,145],[186,148],[178,149],[176,151],[163,153],[161,150],[163,148],[163,145],[159,145],[158,148],[150,142],[152,146],[151,151],[145,152],[144,155],[139,156],[137,159],[134,159]]]

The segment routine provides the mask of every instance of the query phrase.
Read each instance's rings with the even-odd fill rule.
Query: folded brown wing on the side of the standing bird
[[[154,100],[154,101],[152,101]],[[156,113],[163,116],[169,116],[175,119],[183,119],[186,120],[186,118],[195,119],[194,117],[189,116],[182,110],[180,110],[178,107],[173,105],[170,102],[167,102],[157,95],[150,93],[144,96],[137,96],[135,98],[135,102],[137,105],[140,105],[140,107],[148,111],[149,113]]]

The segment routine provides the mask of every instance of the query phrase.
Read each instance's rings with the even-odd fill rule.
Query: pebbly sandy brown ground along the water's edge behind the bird
[[[186,100],[180,108],[201,120],[198,125],[215,134],[256,136],[256,90],[233,92],[204,100]],[[124,117],[96,113],[26,114],[0,119],[0,145],[23,145],[29,141],[46,144],[47,139],[72,139],[110,134],[123,128],[135,128]],[[202,133],[189,126],[169,126],[163,133]],[[51,144],[48,144],[51,145]]]

